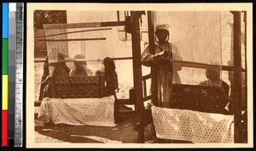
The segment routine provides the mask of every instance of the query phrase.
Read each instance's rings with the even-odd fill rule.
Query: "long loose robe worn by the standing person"
[[[169,47],[164,48],[166,51],[172,52],[172,60],[182,60],[177,46],[169,42]],[[155,44],[155,53],[160,53],[164,51],[163,47],[159,44]],[[147,47],[142,53],[142,63],[145,66],[152,66],[155,64],[154,55],[149,53],[149,48]],[[178,70],[182,70],[181,66],[173,64],[173,67],[168,64],[158,64],[157,65],[157,93],[158,93],[158,106],[163,108],[171,107],[171,97],[172,97],[172,83],[181,83],[181,79],[177,73]],[[171,73],[172,72],[172,73]],[[172,75],[172,76],[171,76]],[[172,83],[171,83],[172,81]]]

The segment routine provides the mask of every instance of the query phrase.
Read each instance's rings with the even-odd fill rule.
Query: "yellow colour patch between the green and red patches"
[[[8,110],[8,75],[3,75],[3,86],[2,86],[2,110]]]

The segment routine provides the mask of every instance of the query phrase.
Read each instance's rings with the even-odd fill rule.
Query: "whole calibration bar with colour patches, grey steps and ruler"
[[[2,147],[22,147],[24,3],[2,4]]]

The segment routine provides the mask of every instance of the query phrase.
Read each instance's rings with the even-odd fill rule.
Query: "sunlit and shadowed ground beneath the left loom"
[[[36,143],[137,143],[136,119],[122,120],[113,127],[67,126],[48,123],[35,126]],[[152,131],[145,129],[146,141]]]

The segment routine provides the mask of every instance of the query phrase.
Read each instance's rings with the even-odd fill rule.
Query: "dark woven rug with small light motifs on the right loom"
[[[172,109],[190,109],[207,113],[225,114],[229,92],[223,87],[173,85]]]

